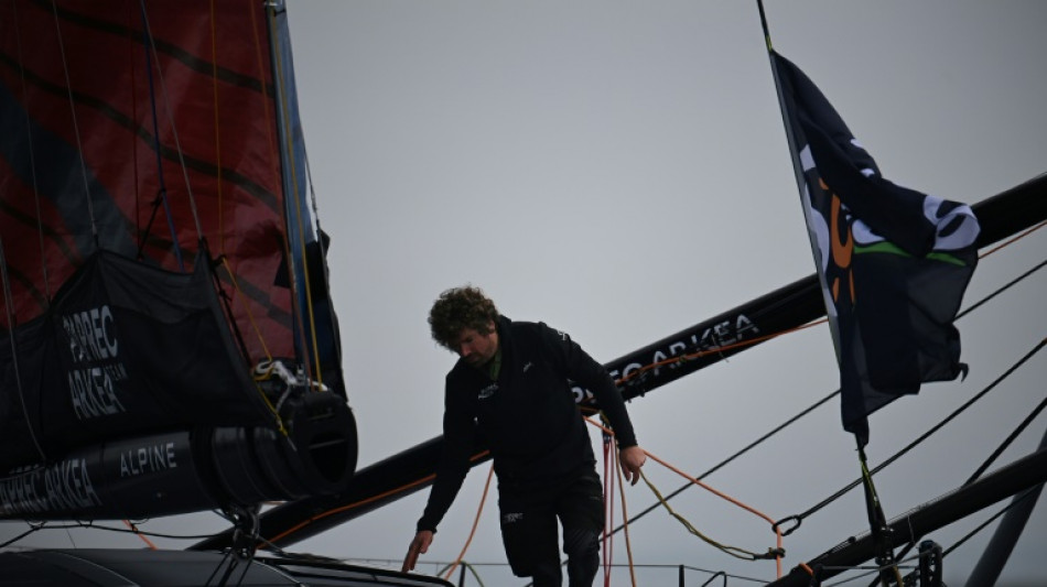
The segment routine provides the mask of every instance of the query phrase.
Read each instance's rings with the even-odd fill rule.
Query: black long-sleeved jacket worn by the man
[[[596,461],[571,382],[593,392],[619,447],[636,446],[622,394],[602,365],[543,323],[497,323],[501,368],[458,360],[447,373],[443,454],[418,530],[435,530],[462,487],[478,441],[490,448],[499,486],[526,490]],[[570,380],[570,382],[569,382]]]

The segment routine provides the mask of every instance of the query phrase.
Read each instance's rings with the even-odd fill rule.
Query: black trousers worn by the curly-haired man
[[[501,540],[512,574],[532,577],[535,587],[559,587],[557,520],[563,526],[570,587],[591,587],[600,568],[604,497],[595,466],[544,487],[499,486]]]

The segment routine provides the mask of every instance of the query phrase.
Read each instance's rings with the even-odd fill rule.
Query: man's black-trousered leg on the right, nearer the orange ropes
[[[600,569],[600,533],[604,528],[604,491],[596,470],[586,471],[558,503],[563,524],[570,587],[591,587]]]

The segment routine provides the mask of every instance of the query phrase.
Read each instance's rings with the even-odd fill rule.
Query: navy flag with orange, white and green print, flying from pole
[[[964,204],[896,185],[818,87],[771,52],[811,248],[840,363],[843,427],[925,381],[965,372],[953,326],[978,262]]]

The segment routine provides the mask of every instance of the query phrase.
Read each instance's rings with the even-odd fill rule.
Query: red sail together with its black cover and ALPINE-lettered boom
[[[0,2],[0,518],[344,490],[281,2]]]

